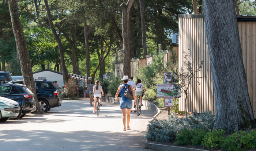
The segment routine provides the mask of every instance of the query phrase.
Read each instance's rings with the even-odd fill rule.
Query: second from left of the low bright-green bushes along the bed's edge
[[[191,144],[192,146],[199,146],[202,143],[202,139],[204,138],[204,136],[206,135],[206,130],[202,129],[202,128],[196,128],[193,129],[191,131],[192,133],[192,140],[191,140]]]

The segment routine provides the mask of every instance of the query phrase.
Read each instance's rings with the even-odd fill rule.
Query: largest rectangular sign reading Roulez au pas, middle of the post
[[[180,85],[176,84],[157,84],[157,97],[161,98],[180,98]]]

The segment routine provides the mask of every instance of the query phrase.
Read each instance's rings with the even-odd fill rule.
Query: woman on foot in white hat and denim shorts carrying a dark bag
[[[124,84],[120,85],[118,87],[117,92],[116,92],[115,101],[117,101],[117,96],[118,96],[119,92],[121,92],[120,109],[121,109],[122,114],[123,114],[123,124],[124,124],[123,131],[126,131],[126,127],[125,127],[125,125],[126,125],[125,124],[126,114],[127,114],[127,129],[131,129],[131,127],[129,127],[129,123],[130,123],[130,118],[131,118],[132,100],[129,99],[128,97],[125,97],[124,92],[127,88],[129,88],[129,89],[131,89],[133,98],[135,98],[135,94],[134,94],[134,91],[132,89],[132,86],[127,84],[127,82],[129,81],[128,76],[125,75],[122,80],[123,80]],[[135,104],[136,104],[136,102],[135,102]]]

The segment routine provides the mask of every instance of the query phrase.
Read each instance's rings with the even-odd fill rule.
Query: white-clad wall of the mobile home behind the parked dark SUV
[[[54,73],[52,71],[42,71],[39,73],[34,73],[33,76],[34,79],[38,79],[38,77],[46,77],[46,80],[57,81],[59,86],[64,86],[62,74]]]

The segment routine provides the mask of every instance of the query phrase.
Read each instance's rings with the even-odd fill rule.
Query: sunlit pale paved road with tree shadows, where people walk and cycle
[[[119,105],[102,102],[99,117],[89,100],[63,101],[45,115],[29,114],[0,123],[0,151],[140,151],[154,113],[131,114],[131,130],[123,132]],[[148,150],[147,150],[148,151]]]

